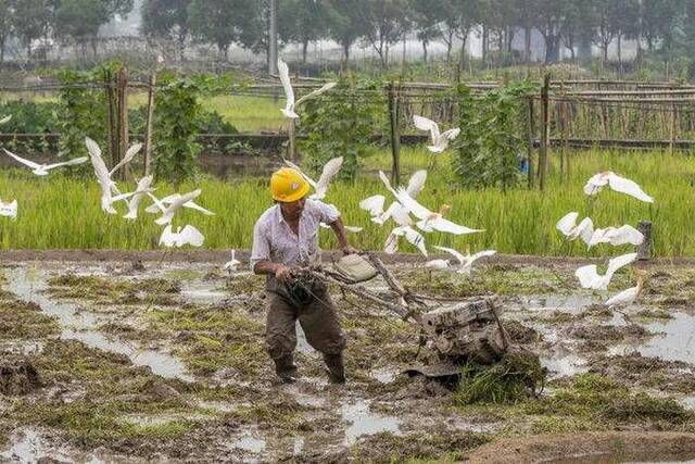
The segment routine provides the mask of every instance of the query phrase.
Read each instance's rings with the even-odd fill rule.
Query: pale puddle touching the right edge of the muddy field
[[[666,322],[645,324],[655,336],[646,342],[623,343],[612,347],[610,354],[637,352],[645,358],[660,358],[665,361],[682,361],[695,364],[695,316],[673,313]]]

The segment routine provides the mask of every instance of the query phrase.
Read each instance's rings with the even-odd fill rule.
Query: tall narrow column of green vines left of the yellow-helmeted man
[[[157,177],[178,184],[198,173],[200,87],[191,79],[173,75],[163,76],[161,84],[155,97],[154,170]]]

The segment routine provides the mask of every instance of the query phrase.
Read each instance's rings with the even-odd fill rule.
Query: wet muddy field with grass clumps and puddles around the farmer
[[[415,327],[340,292],[349,383],[327,381],[300,330],[300,380],[280,385],[263,344],[263,278],[227,276],[226,251],[174,254],[162,265],[153,264],[161,253],[15,255],[59,261],[0,268],[0,353],[41,379],[0,393],[0,461],[457,461],[506,439],[555,446],[545,432],[580,434],[573,442],[585,431],[695,431],[683,407],[695,401],[693,319],[677,304],[694,277],[682,265],[649,264],[648,292],[626,317],[605,309],[603,294],[576,289],[580,261],[502,256],[467,279],[390,256],[410,289],[502,294],[510,338],[549,371],[538,398],[464,404],[460,391],[401,374],[422,359]],[[593,443],[603,455],[602,440]],[[561,451],[539,459],[583,453]]]

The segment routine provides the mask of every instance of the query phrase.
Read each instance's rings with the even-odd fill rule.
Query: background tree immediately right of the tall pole
[[[325,4],[316,0],[283,0],[279,4],[280,38],[302,46],[302,63],[306,63],[308,45],[328,34]]]

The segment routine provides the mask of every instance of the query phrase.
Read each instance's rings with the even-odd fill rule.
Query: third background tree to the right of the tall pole
[[[406,0],[371,0],[369,8],[364,10],[366,25],[366,40],[375,49],[381,66],[389,65],[389,49],[403,37],[407,28]]]

